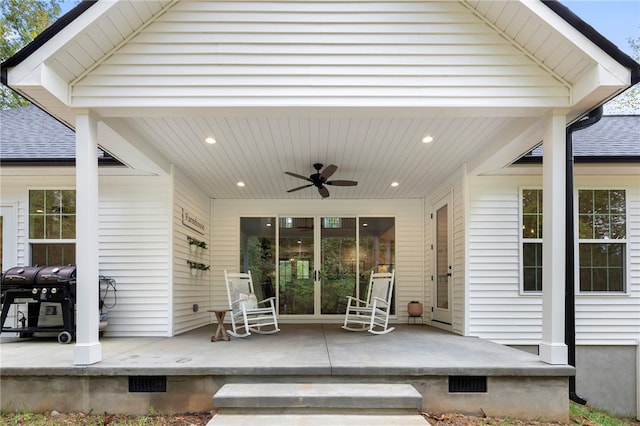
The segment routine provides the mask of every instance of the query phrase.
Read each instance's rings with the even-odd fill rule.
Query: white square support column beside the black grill
[[[73,363],[102,361],[98,286],[98,124],[76,113],[76,345]]]

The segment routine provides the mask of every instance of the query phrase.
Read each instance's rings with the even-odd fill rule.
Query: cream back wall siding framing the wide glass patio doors
[[[422,200],[213,200],[213,303],[224,306],[224,270],[240,267],[240,217],[278,215],[393,216],[396,218],[396,319],[406,321],[407,303],[423,300],[424,213]]]

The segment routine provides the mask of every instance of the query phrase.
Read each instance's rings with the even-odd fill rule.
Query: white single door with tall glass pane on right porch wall
[[[434,286],[433,320],[451,324],[451,195],[440,200],[433,209],[434,218]]]

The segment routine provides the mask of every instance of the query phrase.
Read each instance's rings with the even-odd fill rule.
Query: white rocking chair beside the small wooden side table
[[[253,291],[251,271],[234,273],[224,271],[227,297],[231,309],[231,327],[227,332],[234,337],[251,333],[273,334],[280,331],[276,318],[275,297],[258,302]],[[265,330],[266,328],[266,330]]]

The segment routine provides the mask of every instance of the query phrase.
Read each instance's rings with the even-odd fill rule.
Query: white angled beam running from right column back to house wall
[[[473,156],[467,164],[467,174],[494,174],[504,169],[535,148],[542,141],[543,131],[542,122],[536,119],[524,129],[519,126],[518,129],[503,132],[502,138],[496,139],[490,146],[484,146]]]

